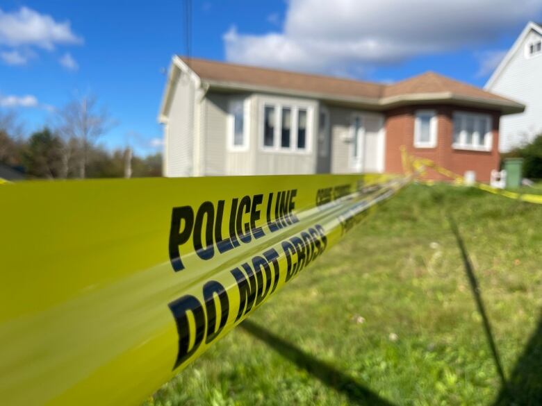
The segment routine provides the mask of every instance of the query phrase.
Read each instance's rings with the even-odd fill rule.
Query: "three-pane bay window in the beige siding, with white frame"
[[[269,101],[262,106],[261,147],[281,152],[308,152],[312,109]]]

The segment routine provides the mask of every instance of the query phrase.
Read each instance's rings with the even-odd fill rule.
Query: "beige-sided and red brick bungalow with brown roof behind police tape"
[[[523,110],[432,72],[382,85],[175,56],[159,115],[164,174],[400,173],[404,145],[489,180],[500,117]]]

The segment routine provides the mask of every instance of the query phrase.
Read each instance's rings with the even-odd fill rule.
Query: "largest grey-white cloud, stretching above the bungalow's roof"
[[[541,13],[541,0],[290,0],[283,31],[223,39],[233,62],[352,71],[484,44]]]

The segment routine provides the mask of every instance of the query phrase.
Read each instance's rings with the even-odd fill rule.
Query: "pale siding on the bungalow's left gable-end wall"
[[[195,85],[181,74],[175,85],[165,131],[165,176],[193,174]]]

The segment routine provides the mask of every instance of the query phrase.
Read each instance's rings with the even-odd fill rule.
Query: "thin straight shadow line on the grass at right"
[[[499,352],[497,350],[497,346],[495,345],[495,340],[493,339],[491,323],[489,323],[489,318],[486,314],[486,308],[484,307],[484,301],[482,301],[482,294],[480,293],[480,287],[478,285],[478,280],[476,279],[476,276],[474,273],[473,264],[472,262],[470,262],[470,257],[468,256],[467,248],[465,246],[465,243],[463,242],[463,238],[461,237],[461,234],[459,233],[459,228],[457,228],[457,224],[455,223],[453,217],[450,214],[448,214],[447,219],[448,219],[448,222],[450,223],[450,228],[452,229],[452,232],[454,233],[457,246],[459,247],[459,251],[461,251],[461,258],[463,259],[463,267],[465,268],[465,273],[467,275],[468,282],[470,284],[470,290],[473,291],[476,307],[478,309],[480,316],[482,316],[484,332],[486,333],[487,342],[488,342],[489,348],[491,349],[491,353],[493,354],[493,361],[495,362],[495,369],[497,369],[497,373],[501,381],[502,390],[506,391],[507,381],[506,381],[506,378],[504,378],[504,371],[502,370],[502,364],[500,362]]]

